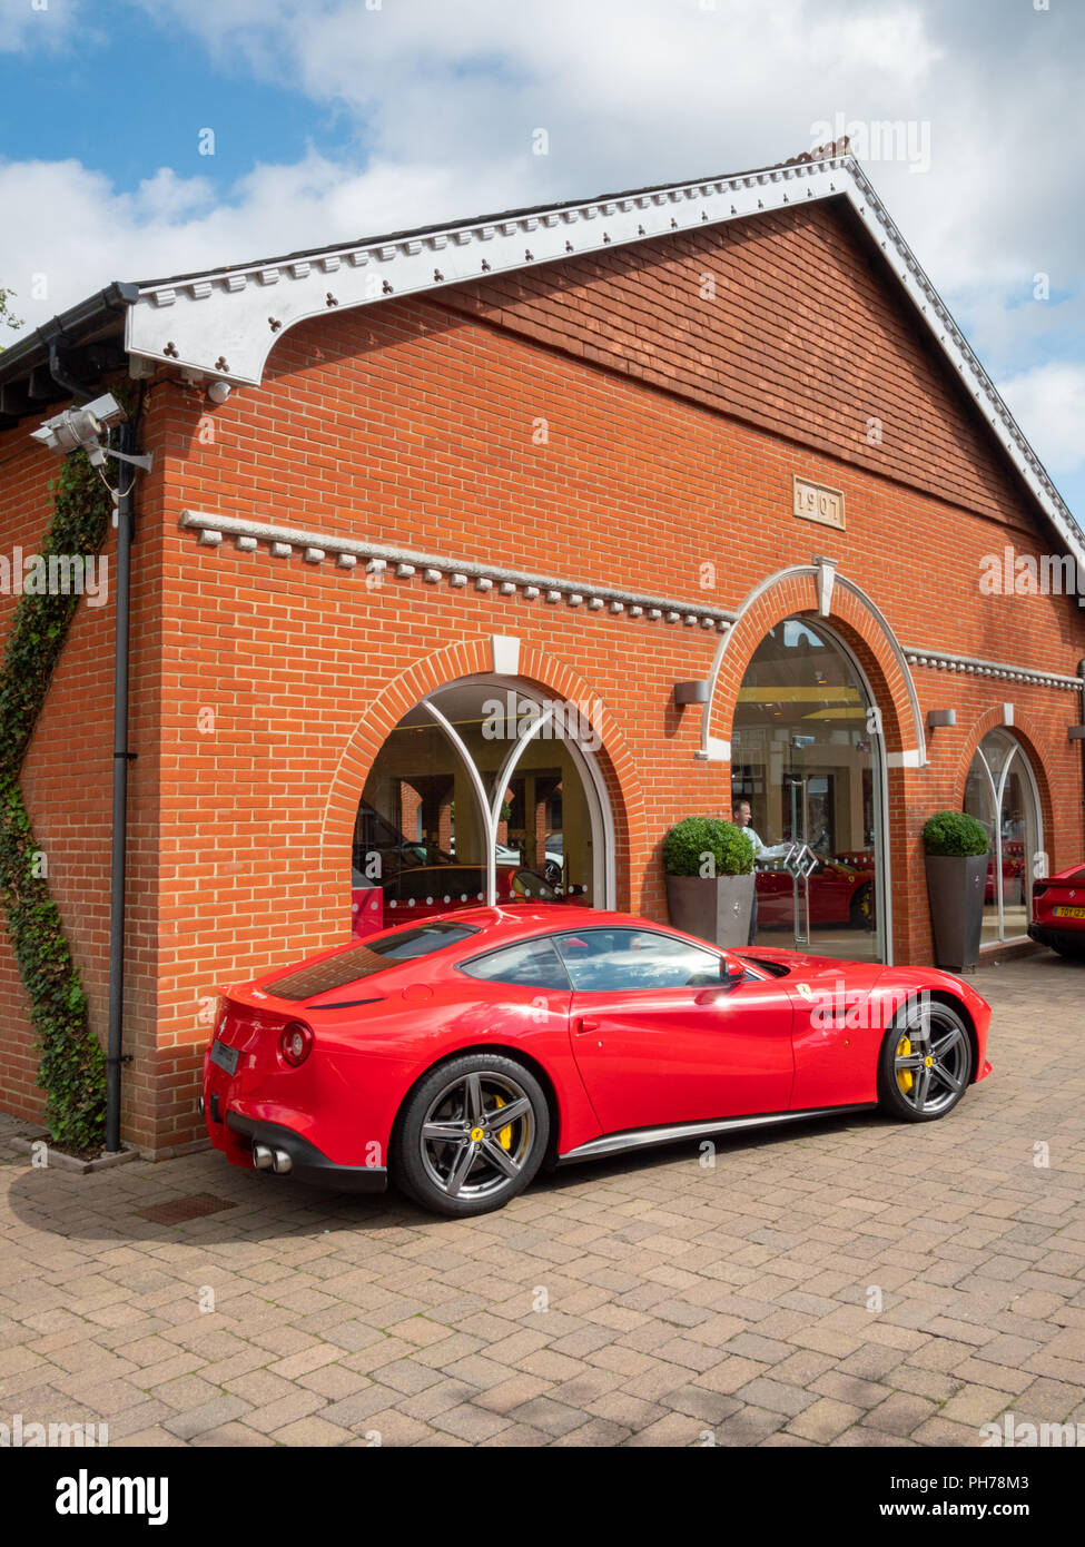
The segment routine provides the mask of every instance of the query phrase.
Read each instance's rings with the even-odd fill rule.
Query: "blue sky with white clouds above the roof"
[[[1080,520],[1085,6],[1037,5],[0,0],[0,283],[37,323],[111,278],[907,121],[924,162],[868,175]]]

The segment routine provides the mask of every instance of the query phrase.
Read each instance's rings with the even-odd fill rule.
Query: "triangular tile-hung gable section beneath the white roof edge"
[[[443,305],[1011,520],[1001,455],[840,201],[457,286]],[[878,419],[881,441],[870,441]]]

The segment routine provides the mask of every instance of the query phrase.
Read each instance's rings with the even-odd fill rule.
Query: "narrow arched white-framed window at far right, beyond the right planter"
[[[1043,855],[1043,820],[1032,767],[1011,732],[989,730],[975,749],[964,809],[991,834],[981,944],[1026,939],[1031,885]]]

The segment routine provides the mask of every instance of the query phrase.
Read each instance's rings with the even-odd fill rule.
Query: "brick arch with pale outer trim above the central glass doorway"
[[[918,750],[926,756],[922,716],[904,653],[888,623],[845,577],[837,575],[828,617],[817,603],[817,568],[803,565],[785,569],[758,586],[743,603],[738,617],[721,640],[714,665],[714,682],[706,710],[706,727],[723,741],[731,739],[738,690],[749,662],[765,636],[786,617],[806,617],[827,625],[851,650],[862,667],[882,710],[885,750]]]

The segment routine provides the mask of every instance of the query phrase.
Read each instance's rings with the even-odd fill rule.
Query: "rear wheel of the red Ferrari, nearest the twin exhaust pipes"
[[[512,1058],[464,1054],[429,1074],[398,1125],[399,1183],[441,1214],[484,1214],[522,1193],[549,1140],[546,1097]]]

